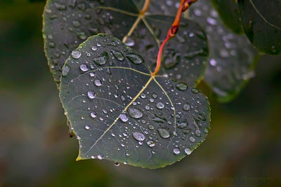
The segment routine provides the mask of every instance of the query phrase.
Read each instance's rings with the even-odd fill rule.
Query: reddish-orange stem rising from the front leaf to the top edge
[[[162,51],[163,51],[164,46],[166,45],[167,41],[169,41],[169,39],[173,38],[176,35],[176,33],[178,32],[178,25],[181,20],[181,13],[186,11],[189,8],[189,6],[192,3],[194,3],[195,1],[197,1],[197,0],[181,0],[181,4],[178,7],[178,12],[176,13],[176,18],[168,31],[166,39],[163,41],[163,43],[161,44],[161,46],[159,48],[158,55],[157,55],[157,64],[155,67],[155,71],[151,74],[152,76],[155,76],[160,70],[161,57],[162,57]]]

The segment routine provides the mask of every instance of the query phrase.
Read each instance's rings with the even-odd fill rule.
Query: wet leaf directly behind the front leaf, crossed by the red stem
[[[48,0],[43,32],[46,56],[55,81],[59,83],[63,63],[72,50],[98,32],[114,34],[117,39],[126,41],[128,46],[144,54],[150,68],[154,69],[159,43],[165,39],[173,21],[174,18],[165,15],[140,15],[131,0]],[[164,48],[162,72],[195,85],[207,66],[207,37],[196,22],[182,19],[180,27],[183,29]]]

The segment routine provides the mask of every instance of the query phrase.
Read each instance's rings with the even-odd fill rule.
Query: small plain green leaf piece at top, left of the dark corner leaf
[[[242,34],[239,8],[235,0],[212,0],[223,23],[236,34]]]

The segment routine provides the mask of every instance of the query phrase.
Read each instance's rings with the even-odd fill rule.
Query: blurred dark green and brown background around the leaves
[[[233,102],[209,95],[209,136],[181,162],[154,170],[76,162],[44,56],[43,8],[0,0],[0,186],[281,185],[281,57],[267,55]]]

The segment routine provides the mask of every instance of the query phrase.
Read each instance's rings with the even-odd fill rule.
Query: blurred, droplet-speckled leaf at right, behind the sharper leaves
[[[190,18],[206,29],[209,40],[209,65],[204,81],[220,102],[233,99],[254,76],[256,50],[244,35],[227,29],[208,0],[190,6]]]

